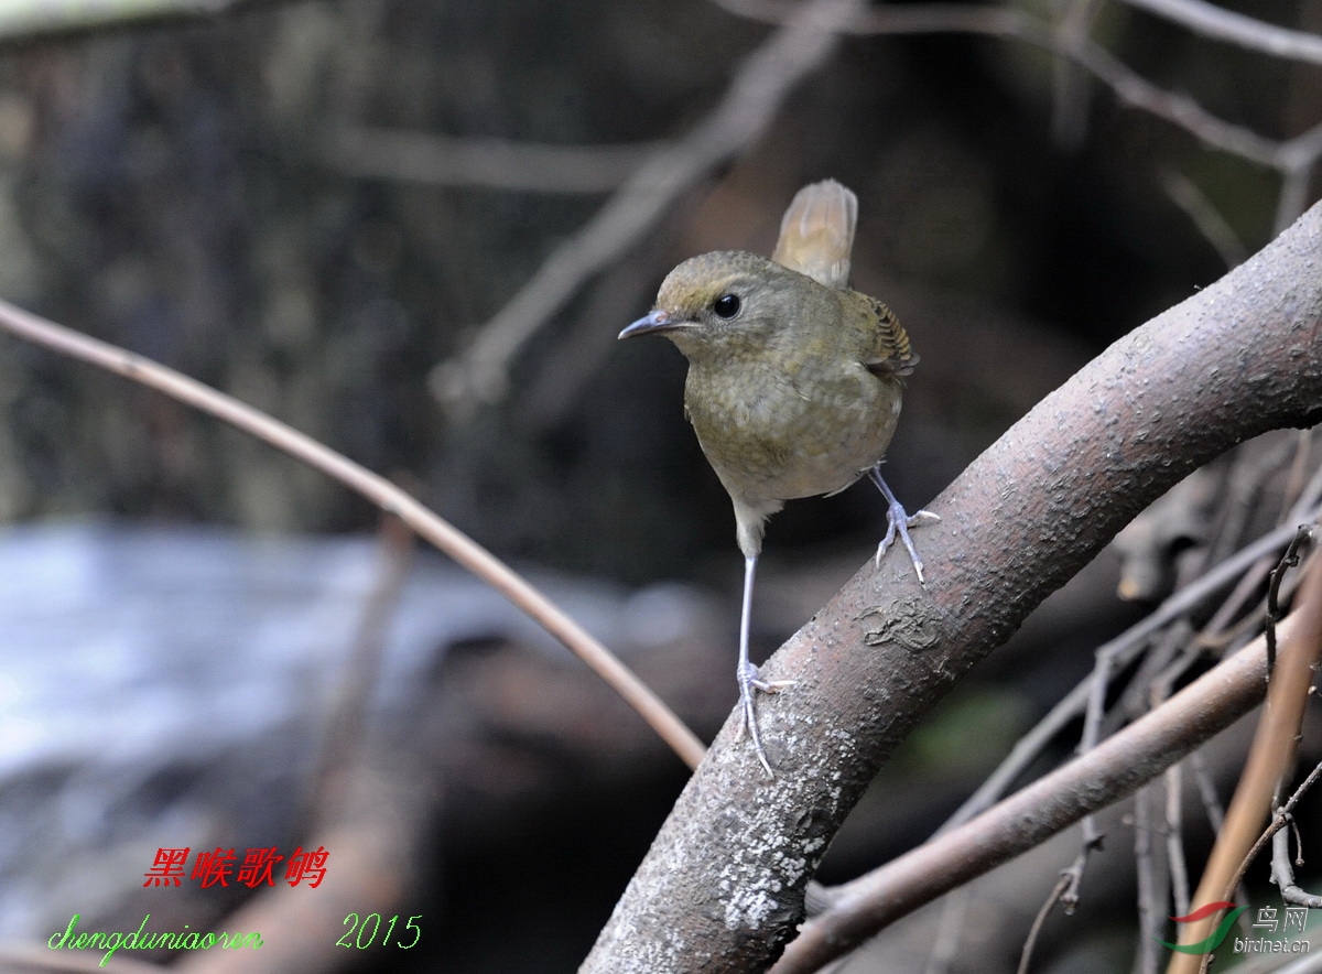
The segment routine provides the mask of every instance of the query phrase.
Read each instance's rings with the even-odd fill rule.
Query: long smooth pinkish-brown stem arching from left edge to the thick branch
[[[164,393],[177,402],[255,436],[362,494],[483,579],[563,642],[620,694],[690,768],[702,760],[702,741],[611,650],[496,555],[381,474],[197,379],[108,342],[79,334],[7,301],[0,301],[0,330]]]

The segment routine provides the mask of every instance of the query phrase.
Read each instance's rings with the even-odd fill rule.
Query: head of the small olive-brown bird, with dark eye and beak
[[[791,340],[813,287],[821,285],[755,254],[703,254],[670,271],[656,307],[620,337],[664,334],[694,362],[765,353]]]

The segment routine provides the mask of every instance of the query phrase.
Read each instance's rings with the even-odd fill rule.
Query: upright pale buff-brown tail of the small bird
[[[843,288],[857,223],[858,197],[836,180],[813,182],[785,210],[771,259],[826,287]]]

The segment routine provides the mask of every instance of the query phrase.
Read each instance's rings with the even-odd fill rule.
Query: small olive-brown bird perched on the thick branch
[[[919,581],[923,562],[910,517],[882,480],[880,463],[900,415],[902,377],[917,356],[891,309],[849,288],[858,200],[834,180],[798,190],[768,260],[717,251],[670,271],[656,307],[620,332],[664,334],[689,359],[683,410],[702,452],[734,501],[744,555],[739,625],[739,700],[768,774],[754,714],[765,681],[748,659],[754,576],[767,518],[785,501],[834,494],[865,473],[887,502],[880,559],[896,537]]]

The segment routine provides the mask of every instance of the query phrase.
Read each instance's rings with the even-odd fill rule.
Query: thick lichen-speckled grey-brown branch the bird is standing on
[[[1027,352],[1027,350],[1026,350]],[[1097,357],[933,504],[917,587],[869,564],[769,661],[768,782],[722,730],[583,971],[764,970],[849,810],[908,730],[1157,496],[1322,419],[1322,205]],[[903,552],[902,552],[903,554]]]

